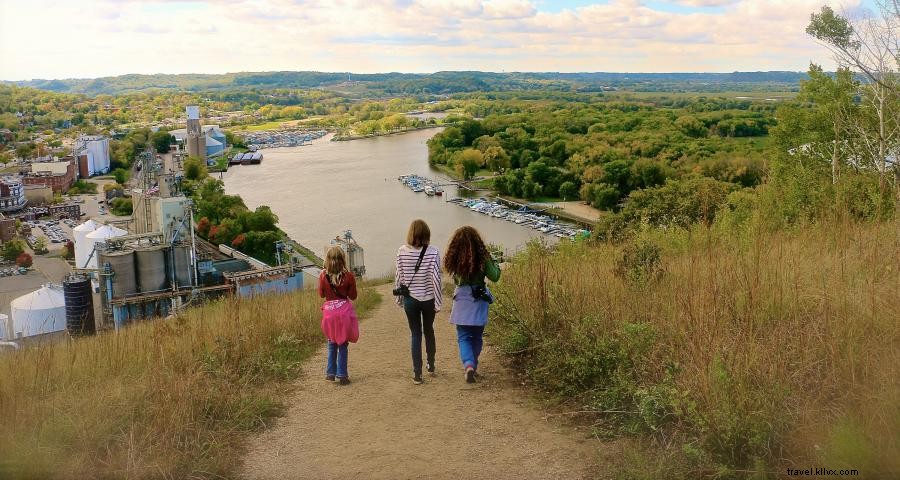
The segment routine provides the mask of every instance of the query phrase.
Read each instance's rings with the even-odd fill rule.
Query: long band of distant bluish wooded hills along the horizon
[[[792,89],[805,72],[733,73],[560,73],[436,72],[351,74],[337,72],[239,72],[225,74],[120,75],[62,80],[25,80],[21,86],[87,95],[143,91],[210,91],[253,88],[362,87],[373,94],[450,94],[472,91],[553,89],[590,91],[632,88],[655,91]],[[7,82],[9,83],[9,82]]]

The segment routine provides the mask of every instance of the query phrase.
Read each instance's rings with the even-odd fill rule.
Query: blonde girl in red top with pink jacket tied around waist
[[[347,347],[359,340],[359,320],[351,300],[356,300],[356,278],[347,270],[347,258],[341,247],[333,246],[325,253],[325,269],[319,275],[322,305],[322,333],[328,339],[325,379],[350,383],[347,371]]]

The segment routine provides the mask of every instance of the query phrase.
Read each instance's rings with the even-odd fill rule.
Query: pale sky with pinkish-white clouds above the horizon
[[[810,13],[866,1],[0,0],[0,79],[829,69]]]

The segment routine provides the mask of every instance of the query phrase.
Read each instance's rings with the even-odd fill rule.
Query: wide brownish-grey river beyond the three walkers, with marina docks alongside
[[[428,165],[425,142],[438,129],[403,135],[331,142],[326,136],[303,147],[266,149],[260,165],[239,165],[223,175],[225,190],[240,195],[250,208],[269,205],[282,230],[322,256],[344,230],[365,249],[370,277],[391,274],[397,247],[409,224],[422,218],[431,227],[431,243],[446,250],[453,231],[477,228],[486,242],[516,250],[535,237],[556,240],[531,228],[447,203],[444,197],[414,193],[397,177],[415,173],[436,178]]]

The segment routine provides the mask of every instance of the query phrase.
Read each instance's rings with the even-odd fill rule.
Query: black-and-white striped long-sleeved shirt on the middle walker
[[[404,284],[409,287],[410,295],[416,300],[428,301],[434,299],[434,309],[440,310],[443,303],[441,296],[441,254],[437,247],[429,245],[422,257],[422,265],[419,273],[416,271],[416,262],[422,249],[403,245],[397,250],[397,274],[394,277],[394,288]],[[397,297],[397,304],[403,303],[402,297]]]

